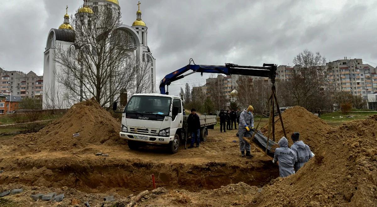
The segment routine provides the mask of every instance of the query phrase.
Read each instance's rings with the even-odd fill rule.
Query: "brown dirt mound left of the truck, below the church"
[[[88,144],[100,145],[107,140],[118,139],[120,122],[93,100],[76,103],[58,120],[39,132],[23,134],[8,144],[40,151],[61,151],[82,148]],[[74,137],[74,134],[78,136]],[[10,142],[10,143],[9,143]]]

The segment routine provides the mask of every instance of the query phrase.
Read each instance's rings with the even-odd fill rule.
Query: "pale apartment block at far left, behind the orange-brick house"
[[[0,68],[1,93],[19,96],[21,98],[41,98],[43,91],[43,76],[30,71],[6,71]]]

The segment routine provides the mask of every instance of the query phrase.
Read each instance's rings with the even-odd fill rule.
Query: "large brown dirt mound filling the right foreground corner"
[[[331,129],[314,160],[263,187],[253,204],[376,206],[377,115]]]

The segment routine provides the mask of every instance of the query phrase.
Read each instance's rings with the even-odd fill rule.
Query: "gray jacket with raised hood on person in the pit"
[[[276,148],[274,161],[279,161],[279,167],[294,167],[294,163],[297,162],[296,153],[288,148],[288,140],[285,137],[278,142],[280,148]],[[294,172],[294,171],[293,171]]]

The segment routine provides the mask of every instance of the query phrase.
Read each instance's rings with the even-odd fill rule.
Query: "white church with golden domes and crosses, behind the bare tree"
[[[120,12],[120,5],[118,0],[84,0],[83,6],[78,9],[75,17],[79,15],[92,15],[95,12],[101,11],[100,7],[111,8],[115,11]],[[77,19],[77,18],[76,18]],[[124,38],[127,38],[128,49],[133,51],[133,54],[139,60],[150,62],[150,78],[151,78],[151,91],[156,91],[156,59],[153,58],[152,53],[148,47],[147,43],[147,33],[148,27],[146,23],[141,19],[140,2],[138,3],[138,11],[136,12],[136,20],[133,22],[132,26],[121,25],[118,29],[122,30]],[[64,90],[64,86],[57,81],[55,74],[57,74],[61,67],[56,62],[54,62],[55,56],[55,46],[60,45],[65,50],[69,50],[73,47],[75,42],[75,31],[70,25],[69,15],[66,13],[64,15],[64,22],[59,26],[58,29],[52,28],[49,31],[46,48],[44,51],[44,67],[43,67],[43,109],[51,109],[51,100],[60,100],[64,102],[64,97],[58,97],[56,91]],[[50,91],[47,91],[50,90]],[[54,91],[52,91],[54,90]],[[47,92],[53,94],[54,97],[47,98]],[[70,108],[73,103],[66,102],[63,107],[57,108]]]

